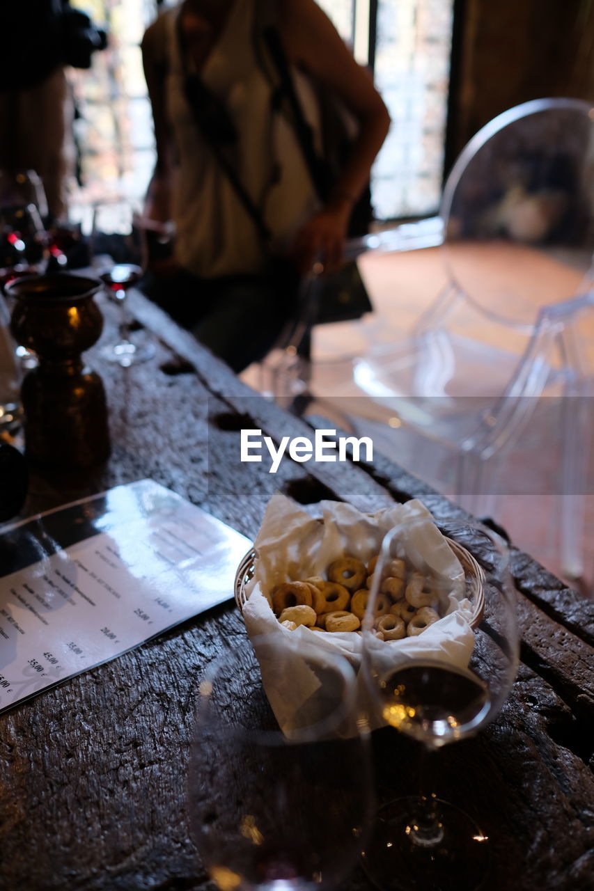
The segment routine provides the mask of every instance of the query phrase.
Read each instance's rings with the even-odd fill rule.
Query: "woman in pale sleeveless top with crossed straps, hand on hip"
[[[288,78],[272,61],[270,33]],[[241,371],[265,355],[293,310],[291,276],[279,290],[275,259],[301,274],[316,258],[328,271],[341,265],[388,112],[314,0],[184,0],[153,22],[142,48],[157,144],[147,216],[175,224],[173,262],[164,274],[155,268],[147,291]],[[324,200],[287,79],[318,154],[319,87],[356,124]]]

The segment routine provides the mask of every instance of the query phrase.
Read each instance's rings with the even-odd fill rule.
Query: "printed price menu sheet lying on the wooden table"
[[[151,479],[0,535],[0,712],[233,596],[251,542]]]

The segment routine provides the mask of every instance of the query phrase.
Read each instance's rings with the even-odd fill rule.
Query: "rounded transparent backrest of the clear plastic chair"
[[[594,249],[594,109],[524,102],[466,145],[441,201],[450,280],[493,321],[533,326],[582,290]]]

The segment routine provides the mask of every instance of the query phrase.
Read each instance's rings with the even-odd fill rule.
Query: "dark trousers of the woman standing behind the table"
[[[241,372],[273,347],[296,312],[297,274],[281,266],[270,274],[201,279],[179,270],[168,278],[147,273],[141,288],[178,324]]]

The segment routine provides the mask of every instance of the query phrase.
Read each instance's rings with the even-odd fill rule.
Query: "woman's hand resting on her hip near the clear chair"
[[[325,274],[340,269],[351,209],[350,198],[329,201],[301,226],[289,254],[302,274],[315,263],[324,266]]]

